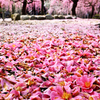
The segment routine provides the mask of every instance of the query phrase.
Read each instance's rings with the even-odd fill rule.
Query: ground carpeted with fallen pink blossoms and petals
[[[0,100],[100,100],[98,23],[0,22]]]

